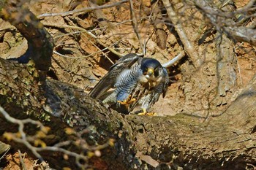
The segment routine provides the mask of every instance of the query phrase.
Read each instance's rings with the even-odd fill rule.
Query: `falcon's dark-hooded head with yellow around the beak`
[[[158,77],[162,72],[162,65],[154,58],[143,58],[140,69],[146,77]]]

